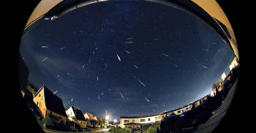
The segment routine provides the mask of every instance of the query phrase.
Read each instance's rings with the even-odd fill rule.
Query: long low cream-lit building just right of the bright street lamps
[[[121,116],[120,126],[122,128],[131,126],[129,123],[134,124],[151,124],[156,121],[161,121],[160,114],[148,115],[148,116]],[[126,126],[125,126],[126,125]]]

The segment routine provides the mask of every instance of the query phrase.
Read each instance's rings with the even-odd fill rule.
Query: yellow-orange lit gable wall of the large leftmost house
[[[46,105],[45,105],[45,89],[44,88],[42,88],[40,90],[39,94],[37,94],[37,96],[34,97],[33,101],[34,101],[34,103],[36,103],[39,110],[41,111],[42,117],[45,118],[45,116],[46,116]]]

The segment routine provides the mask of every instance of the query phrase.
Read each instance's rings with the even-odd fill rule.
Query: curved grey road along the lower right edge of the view
[[[211,118],[209,118],[205,124],[201,124],[200,126],[198,126],[195,133],[210,133],[216,128],[219,122],[222,121],[223,116],[225,116],[227,112],[227,108],[229,107],[233,100],[233,95],[236,90],[237,81],[238,79],[236,79],[230,91],[227,93],[227,97],[225,97],[225,100],[224,102],[222,102],[222,105],[219,106],[219,108],[215,111],[214,116],[211,116]]]

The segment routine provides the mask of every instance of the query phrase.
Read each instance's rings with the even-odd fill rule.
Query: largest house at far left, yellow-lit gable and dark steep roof
[[[61,98],[53,94],[45,85],[42,85],[34,95],[33,101],[41,111],[43,118],[50,116],[55,122],[62,121],[66,124],[67,114]]]

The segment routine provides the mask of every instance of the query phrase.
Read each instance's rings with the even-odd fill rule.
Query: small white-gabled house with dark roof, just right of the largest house
[[[74,106],[70,106],[66,109],[66,113],[69,121],[73,121],[76,124],[80,125],[81,128],[86,128],[86,118],[84,118],[82,110],[75,108]]]

